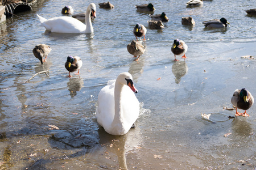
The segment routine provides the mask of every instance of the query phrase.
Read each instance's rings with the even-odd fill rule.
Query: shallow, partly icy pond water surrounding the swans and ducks
[[[97,5],[94,33],[87,35],[46,32],[36,14],[61,16],[65,5],[84,12],[89,1],[40,1],[7,19],[0,31],[1,168],[255,169],[255,107],[250,117],[236,118],[223,109],[232,108],[237,88],[256,94],[255,59],[241,58],[255,56],[256,18],[244,11],[254,1],[204,1],[196,8],[185,2],[153,3],[154,14],[166,12],[170,21],[162,31],[147,29],[138,62],[126,45],[135,39],[136,23],[147,26],[150,17],[134,6],[148,1],[111,1],[112,10]],[[192,16],[196,25],[181,25],[182,16]],[[222,17],[230,27],[201,24]],[[173,62],[176,38],[188,45],[185,62]],[[32,53],[41,43],[52,48],[43,65]],[[83,61],[72,78],[64,67],[69,55]],[[44,70],[49,76],[24,83]],[[97,124],[95,109],[101,88],[124,71],[133,75],[141,112],[135,129],[115,137]],[[211,113],[210,120],[201,113]]]

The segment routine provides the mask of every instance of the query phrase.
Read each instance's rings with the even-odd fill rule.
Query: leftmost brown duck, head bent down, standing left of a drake
[[[33,54],[36,58],[40,60],[40,62],[43,64],[43,62],[46,62],[46,58],[48,54],[51,52],[51,47],[46,44],[39,44],[36,45],[35,48],[32,50]],[[46,57],[46,58],[44,58]]]

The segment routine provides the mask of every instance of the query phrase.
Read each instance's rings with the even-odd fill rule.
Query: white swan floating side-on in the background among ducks
[[[51,19],[45,19],[42,16],[36,14],[46,28],[46,30],[51,32],[58,33],[92,33],[93,26],[90,19],[90,13],[92,12],[93,17],[96,18],[96,5],[90,3],[86,10],[85,23],[80,22],[79,20],[72,18],[70,16],[59,16]]]

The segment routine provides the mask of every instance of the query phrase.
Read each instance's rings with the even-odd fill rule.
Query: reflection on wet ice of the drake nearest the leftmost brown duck
[[[67,83],[67,85],[68,85],[68,91],[71,97],[74,97],[77,95],[77,91],[80,91],[81,88],[84,87],[82,86],[83,84],[84,84],[84,81],[80,77],[69,79],[69,82]]]

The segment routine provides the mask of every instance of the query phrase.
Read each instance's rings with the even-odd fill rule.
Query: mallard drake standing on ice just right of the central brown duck
[[[174,40],[174,44],[172,44],[172,48],[171,48],[171,51],[172,53],[174,53],[174,61],[179,61],[178,59],[176,59],[176,55],[177,56],[182,56],[181,58],[187,58],[185,56],[185,53],[187,52],[188,50],[188,46],[187,44],[185,44],[184,41],[182,40],[179,40],[179,39],[176,39]]]

